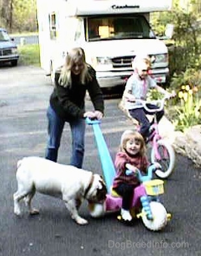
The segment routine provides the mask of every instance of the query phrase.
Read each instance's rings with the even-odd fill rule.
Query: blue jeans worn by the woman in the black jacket
[[[51,106],[47,109],[47,119],[49,138],[47,141],[46,159],[57,162],[60,139],[65,121],[60,119]],[[72,133],[72,156],[70,164],[81,168],[85,153],[85,119],[70,121],[69,124]]]

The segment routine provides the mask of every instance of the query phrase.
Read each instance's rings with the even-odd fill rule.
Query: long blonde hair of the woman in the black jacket
[[[59,83],[64,87],[72,85],[71,70],[75,63],[81,61],[83,63],[83,70],[80,74],[80,81],[83,85],[92,80],[92,76],[88,72],[88,66],[85,59],[85,51],[82,48],[73,48],[68,55],[66,55],[66,61],[62,66]]]

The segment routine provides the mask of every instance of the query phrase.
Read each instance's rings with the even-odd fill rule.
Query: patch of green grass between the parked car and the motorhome
[[[18,46],[20,53],[19,64],[40,66],[40,53],[38,44]]]

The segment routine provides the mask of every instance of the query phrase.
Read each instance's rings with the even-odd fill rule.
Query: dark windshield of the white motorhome
[[[144,16],[105,16],[88,18],[88,41],[155,38]]]

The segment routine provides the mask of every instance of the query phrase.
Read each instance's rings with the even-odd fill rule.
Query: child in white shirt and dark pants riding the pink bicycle
[[[158,92],[165,94],[168,98],[172,96],[171,93],[167,92],[165,89],[157,85],[154,79],[152,79],[148,72],[150,70],[150,59],[148,56],[145,57],[135,57],[133,63],[133,74],[127,79],[126,87],[124,90],[123,98],[125,100],[125,108],[129,112],[129,115],[136,119],[141,125],[140,133],[146,138],[149,135],[150,121],[146,115],[153,115],[153,113],[148,112],[142,106],[141,102],[137,100],[146,100],[146,95],[149,89],[156,89]],[[149,109],[157,109],[154,104],[148,104]],[[161,120],[164,115],[164,109],[156,113],[157,122]]]

